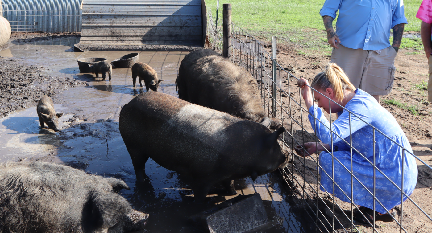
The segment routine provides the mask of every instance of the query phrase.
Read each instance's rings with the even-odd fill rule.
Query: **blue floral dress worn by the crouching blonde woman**
[[[408,142],[407,136],[400,128],[396,119],[384,107],[382,107],[370,94],[357,89],[353,99],[348,101],[345,108],[355,113],[359,118],[371,124],[376,129],[383,132],[389,138],[402,145],[406,151],[403,155],[403,149],[384,137],[381,133],[375,130],[375,163],[376,167],[388,176],[395,184],[401,186],[402,180],[402,156],[403,162],[403,191],[407,195],[411,195],[417,183],[417,165],[415,158],[408,153],[413,152]],[[311,106],[309,109],[309,121],[312,129],[316,129],[316,134],[321,142],[329,144],[333,139],[333,154],[335,159],[334,164],[334,195],[344,202],[351,202],[351,153],[349,145],[342,141],[350,142],[349,139],[349,113],[346,110],[338,112],[338,118],[332,125],[334,133],[330,133],[330,122],[325,118],[321,108],[317,105]],[[318,120],[314,123],[314,117]],[[359,151],[368,161],[373,163],[373,132],[372,127],[358,117],[351,115],[351,132],[352,145]],[[325,125],[325,126],[324,126]],[[327,128],[327,127],[328,128]],[[316,127],[316,128],[315,128]],[[340,137],[338,137],[339,135]],[[373,166],[355,150],[353,150],[353,174],[362,182],[367,189],[373,193]],[[340,163],[337,161],[339,160]],[[319,155],[319,164],[324,169],[320,169],[321,175],[321,190],[327,190],[333,193],[332,177],[332,156],[326,151],[322,151]],[[346,168],[344,168],[343,166]],[[388,181],[378,170],[375,171],[375,196],[390,210],[400,204],[400,191]],[[342,189],[342,190],[341,190]],[[345,192],[345,195],[343,192]],[[404,201],[407,199],[404,196]],[[353,178],[353,202],[356,205],[365,206],[373,209],[373,196],[355,179]],[[375,202],[375,210],[384,214],[387,211],[378,203]]]

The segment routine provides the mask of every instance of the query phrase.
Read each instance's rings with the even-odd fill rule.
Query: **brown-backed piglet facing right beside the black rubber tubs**
[[[149,88],[152,91],[158,91],[159,83],[162,82],[162,79],[158,79],[158,74],[156,70],[147,65],[146,63],[137,62],[132,66],[132,83],[133,87],[135,87],[135,83],[140,82],[141,87],[143,87],[143,81],[146,84],[146,89],[149,91]]]

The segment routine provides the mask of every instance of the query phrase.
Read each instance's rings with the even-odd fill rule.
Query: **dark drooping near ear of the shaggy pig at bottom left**
[[[132,212],[129,202],[114,192],[95,192],[92,201],[92,215],[102,228],[114,226],[122,216]]]

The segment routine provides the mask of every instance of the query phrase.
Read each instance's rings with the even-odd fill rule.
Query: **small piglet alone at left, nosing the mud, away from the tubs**
[[[55,113],[54,104],[51,98],[44,95],[39,100],[38,107],[36,107],[36,112],[39,116],[39,123],[41,123],[41,128],[45,128],[47,124],[48,128],[59,131],[58,119],[63,116],[63,113]]]

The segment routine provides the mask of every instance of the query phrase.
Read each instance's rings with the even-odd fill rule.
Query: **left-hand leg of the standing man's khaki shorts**
[[[338,49],[333,48],[331,62],[342,68],[349,81],[359,88],[367,55],[367,50],[347,48],[340,44]]]

